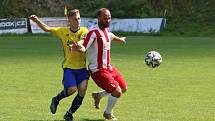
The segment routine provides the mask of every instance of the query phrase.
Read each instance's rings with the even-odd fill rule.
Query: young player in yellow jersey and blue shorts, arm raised
[[[57,106],[65,97],[68,97],[78,90],[78,94],[73,99],[72,105],[64,115],[66,121],[73,121],[72,114],[82,104],[83,98],[87,90],[87,84],[89,80],[89,73],[86,69],[85,53],[79,51],[72,51],[72,44],[81,42],[88,32],[85,27],[80,27],[80,12],[78,9],[71,10],[68,13],[68,27],[51,28],[43,23],[36,15],[31,15],[30,19],[34,21],[41,29],[46,32],[51,32],[52,35],[60,38],[63,50],[63,86],[64,89],[55,97],[52,98],[50,110],[55,114]]]

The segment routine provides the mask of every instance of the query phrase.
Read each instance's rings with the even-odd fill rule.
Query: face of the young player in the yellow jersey
[[[73,29],[79,29],[81,24],[81,17],[79,13],[74,14],[73,16],[69,17],[69,24],[70,27]]]

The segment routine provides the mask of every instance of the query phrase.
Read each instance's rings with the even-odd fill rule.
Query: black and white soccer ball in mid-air
[[[147,66],[149,66],[151,68],[156,68],[156,67],[160,66],[160,64],[162,63],[162,57],[161,57],[160,53],[158,53],[156,51],[149,51],[145,55],[145,63]]]

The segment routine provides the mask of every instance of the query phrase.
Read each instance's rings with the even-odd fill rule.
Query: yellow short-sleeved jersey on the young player
[[[71,52],[68,44],[83,40],[87,32],[88,29],[85,27],[80,27],[80,29],[75,33],[73,33],[69,27],[57,27],[51,29],[52,35],[59,37],[63,45],[64,50],[64,61],[62,64],[63,68],[71,69],[86,68],[85,53],[79,51]]]

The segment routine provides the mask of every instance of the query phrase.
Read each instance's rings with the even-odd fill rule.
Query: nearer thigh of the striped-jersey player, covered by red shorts
[[[118,82],[114,80],[112,74],[107,69],[102,69],[91,73],[94,82],[108,93],[112,93],[119,86]]]

